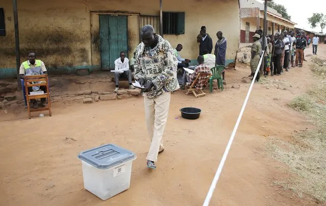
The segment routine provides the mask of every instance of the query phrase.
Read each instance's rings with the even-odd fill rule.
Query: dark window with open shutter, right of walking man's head
[[[185,12],[163,12],[163,34],[185,34]]]

